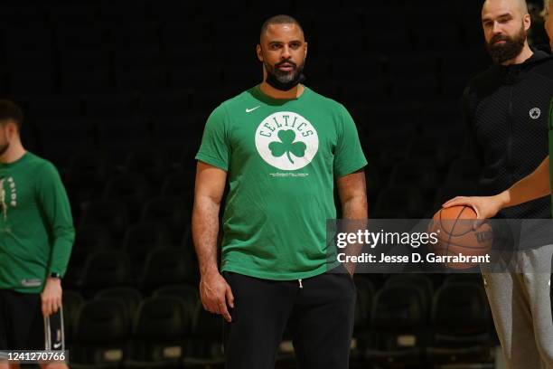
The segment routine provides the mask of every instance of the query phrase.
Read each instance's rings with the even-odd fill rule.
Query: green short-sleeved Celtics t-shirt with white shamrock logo
[[[367,164],[342,104],[306,87],[272,99],[256,86],[213,110],[196,159],[228,172],[221,270],[286,280],[336,264],[325,246],[334,177]]]

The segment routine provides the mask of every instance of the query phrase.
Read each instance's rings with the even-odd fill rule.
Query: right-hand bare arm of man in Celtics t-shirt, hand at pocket
[[[359,221],[366,220],[368,215],[367,204],[367,185],[365,183],[365,172],[361,169],[350,175],[343,175],[336,180],[338,194],[342,203],[342,219]],[[359,225],[355,224],[355,231],[358,231]],[[359,254],[362,245],[349,245],[348,254]],[[353,275],[355,270],[354,263],[346,263],[345,268]]]

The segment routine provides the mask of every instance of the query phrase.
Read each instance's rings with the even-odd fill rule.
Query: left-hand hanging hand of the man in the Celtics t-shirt
[[[229,283],[220,275],[219,271],[202,274],[200,297],[202,298],[202,305],[207,311],[222,315],[230,323],[232,319],[227,308],[227,302],[230,307],[234,308],[234,296],[232,296]]]

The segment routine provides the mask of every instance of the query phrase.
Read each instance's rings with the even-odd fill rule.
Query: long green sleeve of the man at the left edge
[[[37,196],[49,227],[52,253],[48,275],[65,274],[75,241],[69,198],[56,168],[48,163],[38,174]]]

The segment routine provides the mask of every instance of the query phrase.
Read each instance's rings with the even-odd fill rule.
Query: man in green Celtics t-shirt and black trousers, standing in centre
[[[301,367],[345,369],[356,291],[327,255],[325,227],[334,181],[342,217],[367,218],[367,161],[348,111],[300,83],[307,43],[294,18],[268,19],[257,54],[263,81],[213,110],[196,156],[202,304],[227,321],[229,369],[273,368],[286,324]]]

